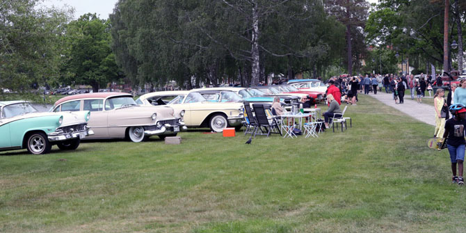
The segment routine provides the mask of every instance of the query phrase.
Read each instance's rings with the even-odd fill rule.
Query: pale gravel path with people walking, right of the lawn
[[[359,93],[358,95],[364,94]],[[398,109],[406,115],[410,115],[412,118],[435,126],[435,109],[433,106],[428,104],[418,104],[416,99],[412,100],[411,95],[409,94],[405,95],[404,104],[395,104],[392,95],[392,93],[387,94],[385,91],[377,92],[377,95],[369,93],[370,97],[376,98],[380,102],[383,102],[388,106],[392,106],[393,108]]]

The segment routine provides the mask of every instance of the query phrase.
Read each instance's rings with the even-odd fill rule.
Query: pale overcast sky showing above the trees
[[[109,14],[113,13],[115,3],[118,0],[43,0],[45,6],[56,6],[63,8],[71,6],[74,8],[74,19],[86,13],[97,13],[99,18],[108,19]],[[377,3],[378,0],[367,0],[369,3]]]

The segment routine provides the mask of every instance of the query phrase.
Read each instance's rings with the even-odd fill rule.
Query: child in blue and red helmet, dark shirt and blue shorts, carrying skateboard
[[[447,148],[450,154],[451,172],[453,177],[451,182],[460,185],[465,184],[463,179],[463,161],[465,161],[465,129],[466,129],[466,109],[463,104],[452,104],[450,112],[454,115],[453,118],[445,122],[445,132],[440,142],[444,143],[447,138]],[[442,150],[439,147],[438,150]],[[456,164],[458,163],[458,176],[456,176]]]

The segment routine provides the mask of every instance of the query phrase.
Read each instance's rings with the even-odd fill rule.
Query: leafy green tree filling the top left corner
[[[38,0],[0,1],[1,87],[22,91],[56,81],[61,35],[71,15],[71,10],[41,7]]]

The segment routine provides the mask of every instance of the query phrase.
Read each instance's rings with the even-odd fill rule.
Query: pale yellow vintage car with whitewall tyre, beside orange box
[[[171,106],[184,109],[184,123],[187,127],[209,127],[221,132],[226,127],[240,129],[243,120],[243,103],[209,102],[195,91],[174,90],[148,93],[136,99],[142,106]]]

